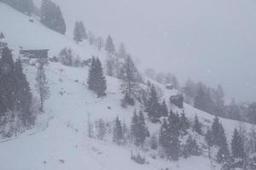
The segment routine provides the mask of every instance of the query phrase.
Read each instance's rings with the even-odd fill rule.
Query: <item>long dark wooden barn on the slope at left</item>
[[[49,49],[20,50],[20,55],[28,59],[48,59]]]

